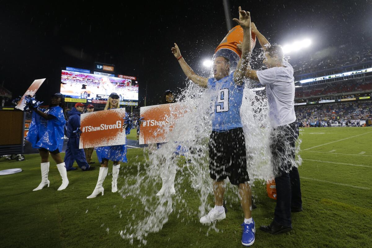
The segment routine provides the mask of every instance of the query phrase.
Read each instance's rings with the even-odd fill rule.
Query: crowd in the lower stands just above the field
[[[346,122],[372,119],[372,101],[295,106],[297,121],[303,123]]]

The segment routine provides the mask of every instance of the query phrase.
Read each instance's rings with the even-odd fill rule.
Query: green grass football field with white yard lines
[[[372,247],[372,128],[304,128],[300,138],[303,163],[299,173],[304,211],[292,214],[294,229],[289,233],[274,236],[261,232],[259,226],[272,221],[275,200],[269,199],[266,187],[256,182],[253,247]],[[104,196],[86,199],[96,185],[99,170],[69,171],[70,184],[67,189],[57,191],[61,178],[51,162],[50,187],[33,192],[41,181],[40,158],[38,154],[25,157],[20,162],[0,158],[0,170],[23,170],[0,176],[1,248],[141,245],[140,242],[130,245],[119,235],[132,216],[128,214],[132,202],[111,193],[110,174],[104,183]],[[136,173],[134,161],[144,160],[143,150],[128,149],[128,160],[122,168],[133,167]],[[111,170],[109,166],[109,173]],[[120,181],[125,180],[125,175],[121,176],[119,188]],[[228,207],[227,218],[217,222],[219,232],[216,232],[198,221],[197,192],[190,185],[181,188],[190,192],[185,200],[195,214],[182,215],[175,209],[163,229],[150,233],[146,237],[147,245],[141,247],[243,247],[240,204]],[[213,204],[212,196],[209,201]]]

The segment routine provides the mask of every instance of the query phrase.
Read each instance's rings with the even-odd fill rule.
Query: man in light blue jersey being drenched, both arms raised
[[[212,91],[212,133],[209,140],[209,172],[213,182],[215,207],[200,219],[201,223],[211,223],[226,218],[223,207],[224,180],[229,177],[231,184],[239,187],[241,205],[244,212],[242,244],[254,243],[255,225],[251,216],[251,189],[248,184],[246,144],[240,107],[243,99],[244,77],[251,50],[250,13],[239,7],[239,20],[234,20],[243,28],[242,55],[237,69],[230,74],[230,61],[216,57],[213,63],[213,78],[196,75],[182,58],[177,44],[171,48],[183,72],[193,83]]]

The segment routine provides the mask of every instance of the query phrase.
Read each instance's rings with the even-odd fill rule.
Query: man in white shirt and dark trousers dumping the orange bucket
[[[292,66],[283,60],[280,46],[270,45],[267,39],[251,23],[264,52],[263,63],[268,69],[247,69],[246,76],[266,86],[269,117],[272,126],[270,151],[275,173],[277,201],[274,220],[260,230],[272,234],[292,230],[291,212],[302,211],[300,178],[295,167],[295,143],[298,126],[294,108],[295,83]]]

